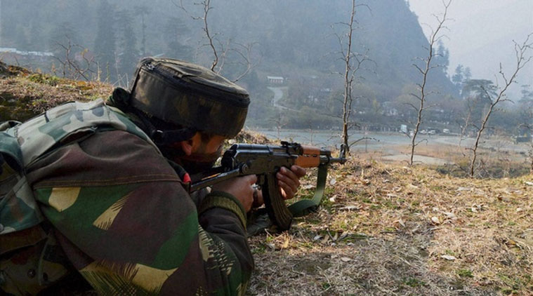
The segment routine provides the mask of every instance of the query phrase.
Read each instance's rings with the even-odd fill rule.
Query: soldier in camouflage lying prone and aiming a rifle
[[[187,189],[188,174],[213,166],[239,133],[248,105],[246,90],[208,69],[147,58],[131,91],[114,90],[107,105],[70,103],[7,130],[40,209],[11,234],[40,238],[16,249],[24,260],[2,259],[0,291],[37,294],[75,269],[100,295],[243,295],[254,269],[245,229],[256,176],[195,201]],[[284,198],[303,175],[280,170]],[[6,263],[16,259],[23,264]]]

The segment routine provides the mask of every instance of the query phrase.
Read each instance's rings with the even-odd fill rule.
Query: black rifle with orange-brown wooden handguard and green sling
[[[232,177],[257,175],[257,184],[261,187],[270,220],[280,230],[287,230],[291,227],[292,217],[305,215],[320,205],[329,164],[345,162],[344,146],[341,146],[338,158],[334,158],[331,157],[329,150],[298,143],[282,142],[281,146],[233,144],[224,152],[221,166],[193,176],[191,191],[209,187]],[[276,173],[282,166],[290,168],[292,165],[318,168],[317,188],[312,199],[303,199],[287,207],[279,192]]]

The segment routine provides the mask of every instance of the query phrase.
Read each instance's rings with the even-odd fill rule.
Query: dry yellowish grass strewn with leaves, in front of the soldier
[[[318,213],[251,239],[249,295],[533,295],[530,177],[350,161],[333,179]]]

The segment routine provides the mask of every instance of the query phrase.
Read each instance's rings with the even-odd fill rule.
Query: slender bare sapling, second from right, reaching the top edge
[[[428,106],[426,105],[426,99],[427,96],[430,95],[432,92],[427,92],[426,90],[426,83],[428,82],[428,74],[431,69],[434,69],[436,67],[440,67],[439,65],[432,65],[431,61],[433,58],[435,58],[439,53],[435,53],[435,44],[442,38],[442,35],[440,34],[440,31],[445,28],[444,23],[447,19],[447,13],[449,5],[452,4],[452,0],[448,0],[447,2],[442,1],[442,4],[445,6],[444,15],[442,15],[442,18],[440,18],[438,15],[435,15],[435,18],[437,19],[437,28],[435,30],[432,29],[432,32],[429,36],[429,47],[426,48],[428,50],[428,56],[427,58],[419,58],[424,63],[424,68],[422,69],[419,67],[419,65],[414,65],[414,67],[422,74],[422,83],[417,83],[416,85],[419,86],[420,95],[417,95],[413,93],[412,95],[416,97],[416,99],[419,100],[420,105],[417,107],[415,105],[409,104],[416,110],[416,124],[414,126],[413,136],[411,137],[411,157],[409,159],[409,166],[413,165],[413,158],[414,158],[414,148],[421,143],[421,141],[416,142],[416,136],[419,134],[419,128],[422,123],[422,114],[424,110],[428,109]]]

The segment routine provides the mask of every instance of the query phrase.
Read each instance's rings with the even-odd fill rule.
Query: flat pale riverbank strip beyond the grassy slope
[[[257,128],[256,132],[272,140],[301,142],[330,149],[338,149],[341,144],[341,134],[337,130]],[[411,139],[402,133],[355,132],[350,135],[350,139],[353,139],[350,142],[355,142],[350,151],[359,159],[404,164],[410,159]],[[459,172],[461,168],[468,167],[471,157],[469,148],[473,146],[474,141],[473,138],[461,138],[457,135],[419,135],[416,140],[419,144],[415,149],[414,163],[445,166],[446,170]],[[530,150],[532,146],[529,143],[515,143],[508,137],[487,137],[480,143],[479,156],[484,159],[487,168],[501,166],[506,171],[516,171],[517,174],[521,174],[528,172]],[[492,175],[505,176],[506,172]]]

